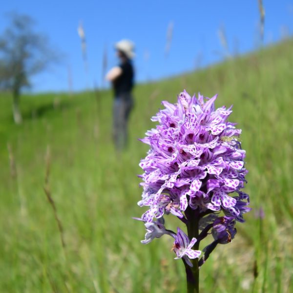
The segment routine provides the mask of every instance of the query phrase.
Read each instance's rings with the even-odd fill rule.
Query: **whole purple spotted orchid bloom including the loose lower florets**
[[[189,266],[190,259],[201,253],[192,250],[196,241],[210,234],[214,238],[199,261],[203,264],[217,244],[234,238],[236,221],[244,222],[243,214],[250,211],[249,196],[242,191],[248,171],[238,140],[241,129],[228,122],[231,107],[215,108],[216,98],[190,97],[184,91],[176,104],[162,102],[165,108],[151,118],[157,126],[141,140],[150,147],[139,164],[143,193],[138,205],[147,207],[142,215],[147,230],[142,242],[171,235],[176,258]],[[160,220],[165,214],[192,229],[195,225],[190,221],[196,220],[196,229],[201,230],[198,239],[190,241],[180,228],[177,234],[166,230]]]

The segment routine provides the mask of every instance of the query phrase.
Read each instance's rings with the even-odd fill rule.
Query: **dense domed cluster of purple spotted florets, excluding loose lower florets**
[[[241,130],[227,121],[231,107],[215,109],[216,98],[196,99],[184,91],[177,104],[162,102],[165,109],[152,118],[159,124],[142,139],[150,150],[140,163],[139,205],[149,208],[142,217],[147,222],[164,213],[182,218],[188,205],[201,212],[223,210],[239,221],[248,211],[248,202],[231,196],[246,182]]]

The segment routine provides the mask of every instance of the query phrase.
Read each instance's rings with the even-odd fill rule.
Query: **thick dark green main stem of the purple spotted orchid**
[[[198,221],[199,221],[199,212],[198,210],[190,209],[189,207],[186,210],[186,216],[188,219],[187,231],[188,237],[191,240],[193,237],[198,239]],[[194,250],[199,249],[199,241],[197,241],[194,246]],[[188,293],[199,293],[199,267],[198,267],[198,258],[191,259],[193,267],[189,267],[185,263],[186,271],[186,280],[187,280],[187,292]]]

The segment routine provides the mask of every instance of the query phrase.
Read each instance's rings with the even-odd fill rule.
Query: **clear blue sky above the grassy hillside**
[[[263,0],[263,3],[264,43],[277,42],[286,32],[292,35],[293,0]],[[4,14],[9,11],[33,17],[37,21],[36,31],[45,33],[52,46],[64,54],[61,64],[33,78],[34,92],[68,90],[68,68],[73,90],[91,88],[94,83],[101,86],[104,48],[110,68],[117,63],[113,44],[124,38],[136,44],[137,82],[220,61],[224,52],[218,37],[220,27],[225,28],[231,54],[245,53],[259,45],[257,0],[9,0],[1,3],[0,32],[7,24]],[[83,21],[86,35],[87,74],[77,34],[79,21]],[[174,28],[166,58],[170,22]]]

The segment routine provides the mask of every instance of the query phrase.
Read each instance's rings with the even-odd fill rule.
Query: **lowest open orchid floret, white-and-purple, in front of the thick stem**
[[[190,259],[197,258],[201,254],[201,251],[192,249],[196,241],[196,238],[192,238],[190,241],[188,236],[178,227],[173,245],[173,250],[177,255],[175,259],[183,258],[188,266],[192,267]]]

